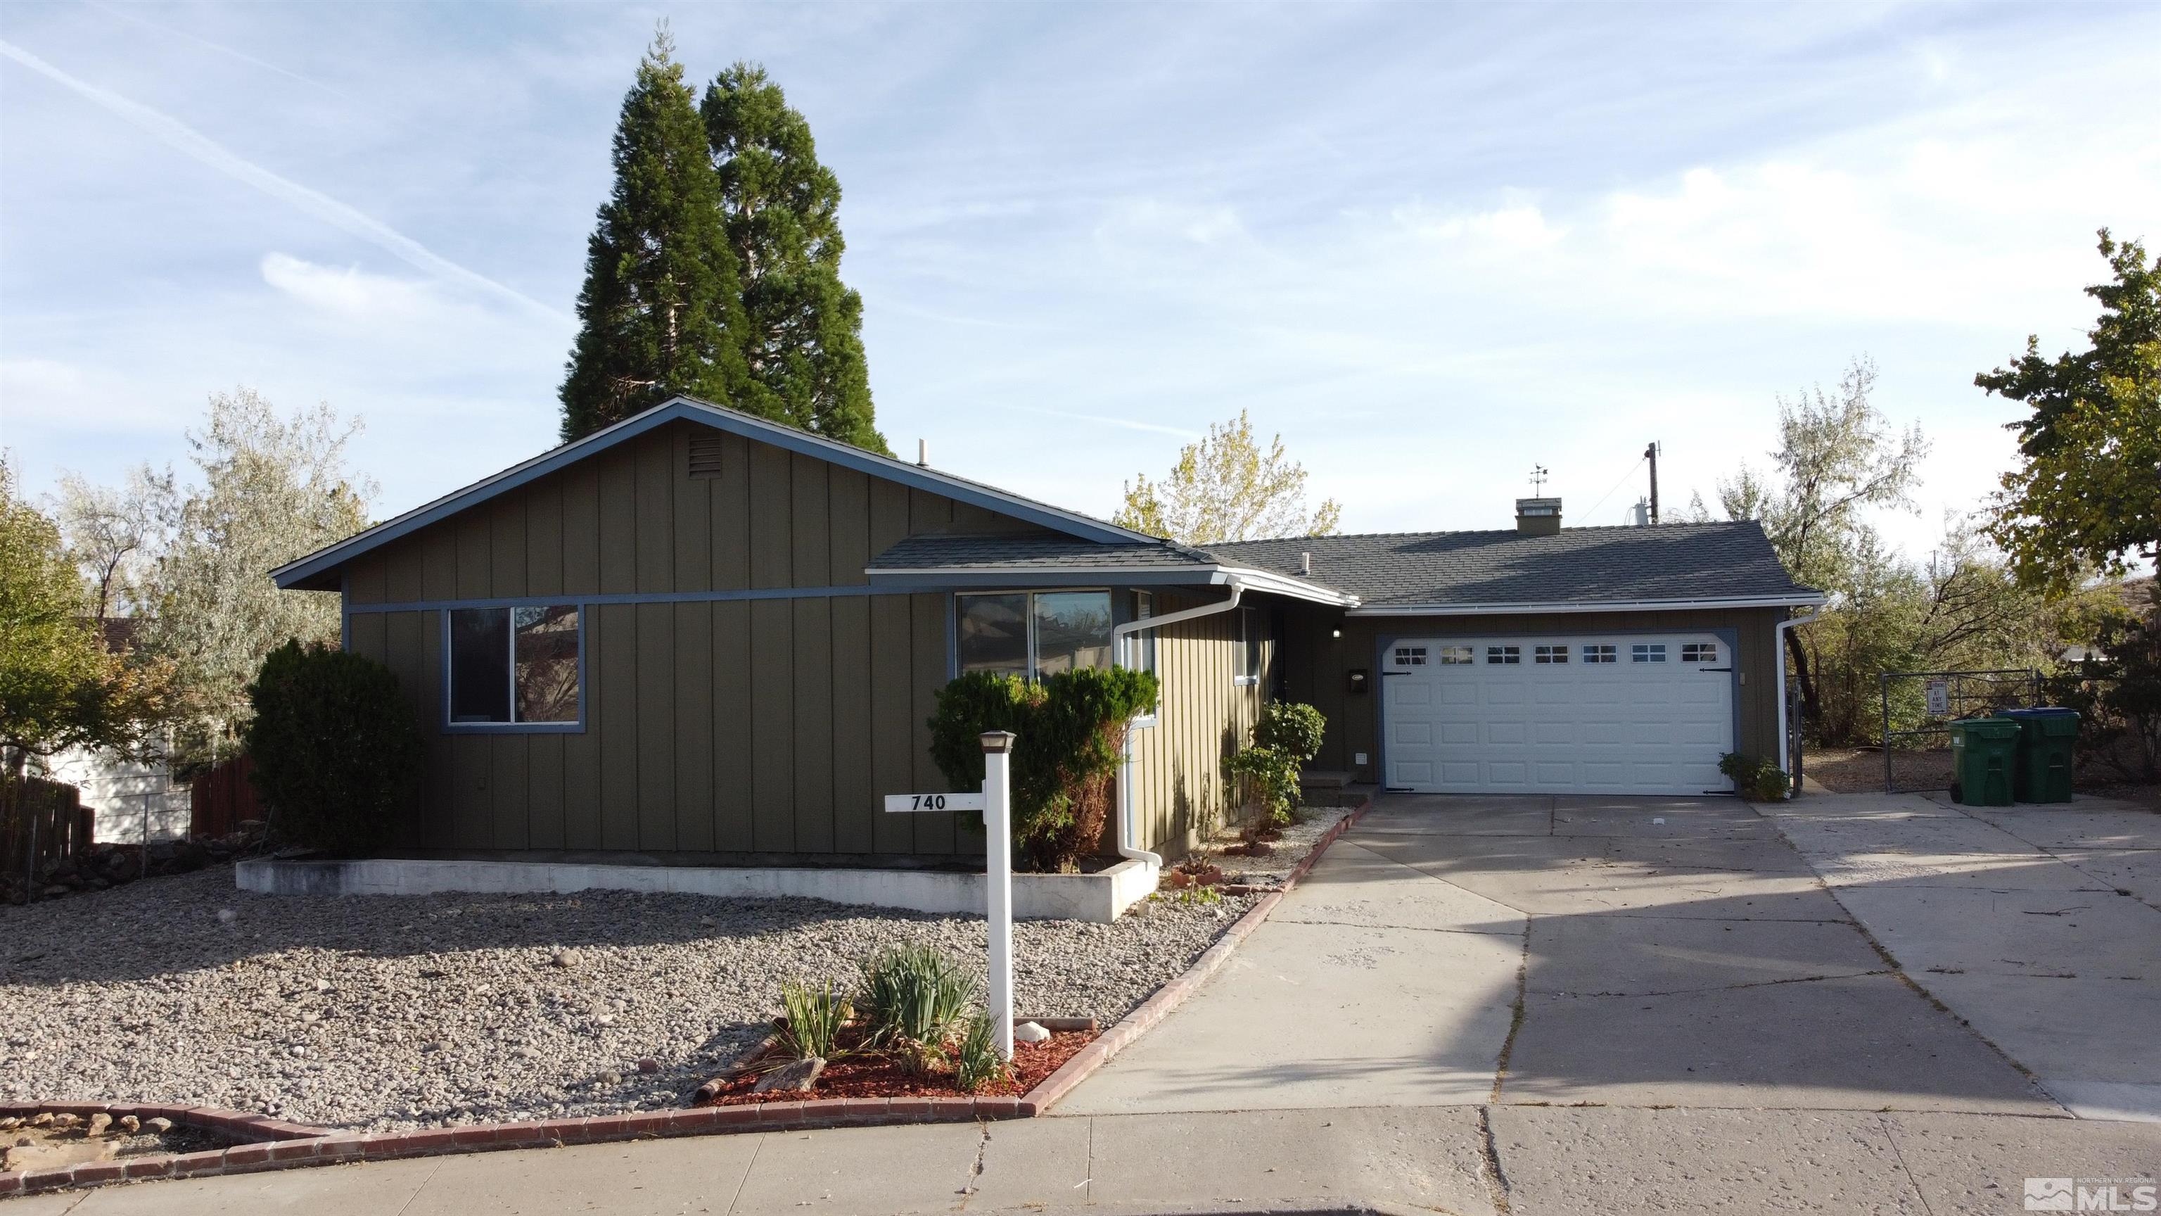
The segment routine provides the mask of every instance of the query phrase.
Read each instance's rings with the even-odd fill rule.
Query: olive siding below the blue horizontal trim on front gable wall
[[[947,679],[940,593],[592,606],[573,733],[439,729],[441,643],[439,610],[352,614],[350,649],[398,673],[428,744],[400,846],[981,850],[953,816],[877,811],[884,792],[944,788],[923,725]]]

